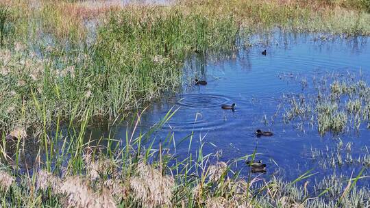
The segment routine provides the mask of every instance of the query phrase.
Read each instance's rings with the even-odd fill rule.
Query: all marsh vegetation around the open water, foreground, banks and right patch
[[[364,169],[351,176],[333,173],[309,188],[305,179],[313,172],[289,182],[240,177],[231,168],[234,161],[203,155],[203,144],[196,155],[179,161],[171,135],[159,145],[152,136],[175,109],[143,133],[136,129],[138,114],[137,138],[127,132],[122,140],[102,137],[94,145],[84,138],[93,122],[125,119],[177,92],[182,64],[192,53],[235,51],[249,46],[249,35],[277,27],[369,36],[369,11],[367,0],[184,0],[169,5],[0,0],[1,206],[368,206],[369,189],[356,186],[365,178]],[[343,96],[351,86],[334,82],[330,88]],[[367,101],[364,83],[357,83],[355,91]],[[356,102],[339,109],[354,119],[362,112],[369,116]],[[323,100],[316,112],[334,104]],[[299,107],[291,103],[287,118],[301,116]],[[334,106],[318,118],[322,131],[343,129],[343,119],[330,121],[337,111]]]

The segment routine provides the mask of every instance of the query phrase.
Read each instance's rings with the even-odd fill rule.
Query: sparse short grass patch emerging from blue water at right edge
[[[285,123],[310,122],[317,126],[321,135],[328,131],[341,133],[349,129],[359,131],[362,125],[369,127],[370,89],[362,77],[328,74],[321,81],[313,80],[317,94],[283,96],[286,103],[283,119]]]

